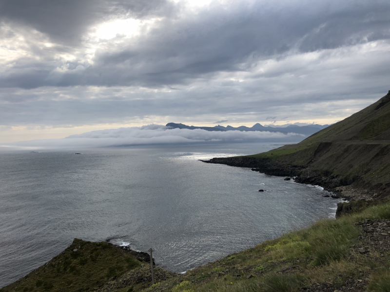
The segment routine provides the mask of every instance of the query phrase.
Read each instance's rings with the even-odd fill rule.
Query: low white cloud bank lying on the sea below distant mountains
[[[279,132],[212,132],[202,129],[170,129],[162,125],[106,129],[71,135],[64,139],[46,139],[10,143],[2,146],[22,148],[88,148],[126,145],[183,144],[199,142],[295,142],[306,136]]]

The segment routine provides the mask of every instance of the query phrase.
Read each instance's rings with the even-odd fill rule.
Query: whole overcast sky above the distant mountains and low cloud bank
[[[389,81],[389,0],[0,0],[0,142],[328,124]]]

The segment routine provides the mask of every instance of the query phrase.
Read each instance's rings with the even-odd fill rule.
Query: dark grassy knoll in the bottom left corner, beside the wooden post
[[[140,265],[134,256],[111,243],[75,238],[61,254],[0,291],[91,291]]]

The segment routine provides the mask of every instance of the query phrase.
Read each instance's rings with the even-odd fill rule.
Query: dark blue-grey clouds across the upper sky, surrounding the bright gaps
[[[389,1],[237,2],[188,15],[162,0],[1,3],[0,16],[6,21],[32,26],[61,44],[59,50],[70,52],[78,50],[82,36],[98,21],[123,15],[166,17],[147,34],[99,49],[83,70],[70,66],[56,71],[64,64],[49,51],[37,53],[42,55],[39,63],[20,59],[1,74],[0,87],[175,86],[219,72],[247,71],[258,60],[283,58],[287,53],[390,38]],[[74,52],[76,59],[78,54]],[[274,76],[286,72],[288,68]]]

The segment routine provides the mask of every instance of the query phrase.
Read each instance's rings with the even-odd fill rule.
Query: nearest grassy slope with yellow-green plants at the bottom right
[[[227,256],[146,291],[294,292],[312,290],[313,284],[341,287],[347,281],[361,279],[366,279],[364,284],[370,291],[389,291],[386,289],[390,288],[390,252],[357,252],[368,244],[363,242],[362,230],[356,226],[365,219],[390,219],[390,204],[372,206],[337,220],[321,220],[307,229]],[[253,277],[248,279],[246,275],[250,274]]]

